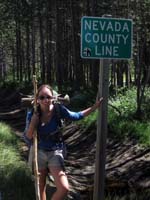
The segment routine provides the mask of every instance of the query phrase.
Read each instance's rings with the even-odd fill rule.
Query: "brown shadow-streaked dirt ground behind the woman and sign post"
[[[7,96],[6,96],[7,94]],[[1,91],[0,121],[5,121],[21,137],[26,109],[21,107],[18,92]],[[96,125],[82,129],[76,123],[65,127],[67,144],[66,173],[71,184],[69,199],[91,200],[93,196]],[[23,155],[28,149],[24,145]],[[106,149],[106,191],[143,191],[150,188],[150,148],[142,148],[134,138],[120,141],[108,131]]]

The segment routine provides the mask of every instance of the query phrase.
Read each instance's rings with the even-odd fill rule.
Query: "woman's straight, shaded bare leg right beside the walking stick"
[[[42,169],[39,170],[40,173],[40,180],[39,180],[39,186],[40,186],[40,196],[41,200],[46,200],[46,176],[47,176],[47,170]]]

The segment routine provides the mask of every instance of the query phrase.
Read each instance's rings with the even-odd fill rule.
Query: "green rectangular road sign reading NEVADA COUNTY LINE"
[[[88,59],[130,59],[132,20],[82,17],[81,57]]]

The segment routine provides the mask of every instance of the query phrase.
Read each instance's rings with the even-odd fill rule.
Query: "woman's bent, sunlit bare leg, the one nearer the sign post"
[[[53,194],[51,200],[64,200],[69,191],[68,178],[61,168],[50,168],[51,175],[54,177],[56,192]]]

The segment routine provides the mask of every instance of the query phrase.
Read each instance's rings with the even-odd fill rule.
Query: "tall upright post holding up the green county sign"
[[[109,61],[100,60],[99,72],[99,97],[104,101],[98,113],[97,140],[96,140],[96,163],[93,200],[104,199],[105,187],[105,160],[106,160],[106,138],[107,138],[107,105],[109,85]]]

